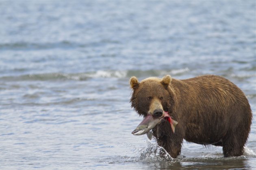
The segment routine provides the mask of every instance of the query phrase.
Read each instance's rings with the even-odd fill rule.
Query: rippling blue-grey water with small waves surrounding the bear
[[[172,159],[130,108],[129,79],[217,74],[256,117],[255,1],[1,1],[0,168],[255,169],[184,141]],[[185,157],[184,157],[185,156]]]

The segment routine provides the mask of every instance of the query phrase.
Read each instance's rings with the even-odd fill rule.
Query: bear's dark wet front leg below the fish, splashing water
[[[168,122],[157,125],[153,130],[157,144],[163,147],[173,158],[180,155],[181,151],[183,138],[179,132],[180,130],[176,128],[175,133],[173,133]]]

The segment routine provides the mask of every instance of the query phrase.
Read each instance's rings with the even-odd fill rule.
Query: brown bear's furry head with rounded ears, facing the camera
[[[170,114],[173,105],[170,84],[170,75],[163,77],[163,79],[150,77],[141,82],[136,77],[131,77],[131,107],[144,117],[148,114],[154,117],[161,117],[163,111],[167,111]]]

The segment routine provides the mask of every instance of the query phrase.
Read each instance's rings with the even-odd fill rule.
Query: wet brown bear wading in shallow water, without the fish
[[[131,107],[139,115],[161,117],[163,111],[176,121],[153,128],[153,136],[173,158],[180,155],[183,139],[223,147],[224,157],[240,156],[252,123],[252,110],[239,87],[216,75],[178,80],[170,75],[150,77],[139,83],[131,77]]]

